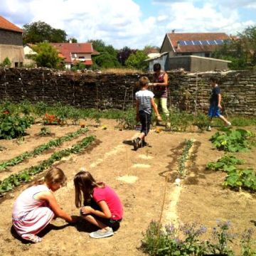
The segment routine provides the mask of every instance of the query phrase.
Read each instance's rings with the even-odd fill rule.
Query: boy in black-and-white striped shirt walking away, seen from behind
[[[134,150],[137,150],[139,146],[146,146],[145,137],[150,129],[152,107],[156,112],[157,120],[161,121],[161,116],[154,102],[154,93],[148,90],[149,79],[146,77],[139,78],[139,87],[139,92],[136,92],[135,94],[136,119],[142,123],[142,129],[139,137],[133,140]]]

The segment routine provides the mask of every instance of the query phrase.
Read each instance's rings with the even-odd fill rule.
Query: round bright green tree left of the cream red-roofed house
[[[33,50],[38,54],[31,55],[31,58],[36,61],[38,67],[58,68],[62,59],[58,57],[58,51],[49,43],[38,43]]]

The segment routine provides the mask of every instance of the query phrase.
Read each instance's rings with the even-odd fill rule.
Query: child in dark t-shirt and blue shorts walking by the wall
[[[220,114],[221,107],[221,94],[220,94],[220,87],[218,87],[218,79],[217,78],[210,78],[210,85],[213,87],[213,90],[210,95],[210,108],[208,112],[208,116],[210,117],[210,122],[212,121],[213,117],[219,117],[226,126],[230,126],[231,123],[228,122],[223,115]],[[211,130],[211,127],[208,127],[208,131]]]

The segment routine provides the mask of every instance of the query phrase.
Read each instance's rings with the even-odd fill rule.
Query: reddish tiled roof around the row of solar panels
[[[230,36],[225,33],[167,33],[166,36],[176,53],[212,52],[220,47],[220,45],[178,46],[179,41],[230,40]]]

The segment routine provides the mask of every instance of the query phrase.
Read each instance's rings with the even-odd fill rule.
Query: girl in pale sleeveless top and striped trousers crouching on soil
[[[18,196],[12,210],[12,224],[21,238],[41,242],[42,238],[36,234],[46,228],[54,217],[63,218],[69,223],[78,220],[77,216],[71,217],[65,213],[53,195],[53,192],[65,185],[66,180],[61,169],[52,167],[43,181],[36,182]]]

